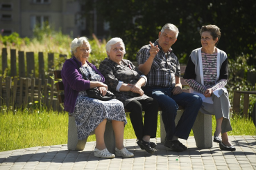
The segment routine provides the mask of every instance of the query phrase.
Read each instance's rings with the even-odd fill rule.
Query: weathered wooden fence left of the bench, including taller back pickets
[[[8,68],[7,48],[2,48],[1,57],[2,73],[5,77],[0,77],[0,106],[6,105],[13,110],[46,106],[53,111],[62,111],[62,106],[56,98],[58,94],[54,79],[51,78],[56,65],[53,53],[47,54],[47,70],[44,68],[42,52],[38,53],[38,63],[35,63],[33,52],[24,53],[24,51],[10,49],[10,68]],[[59,57],[62,62],[67,59],[66,55],[59,55]],[[60,61],[57,62],[60,63]],[[61,64],[58,64],[58,67],[61,69]],[[5,73],[6,68],[10,69],[9,74]],[[35,72],[38,75],[35,75]]]

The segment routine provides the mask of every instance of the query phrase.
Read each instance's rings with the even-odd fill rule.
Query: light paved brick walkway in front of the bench
[[[177,153],[156,138],[157,151],[151,155],[139,149],[135,139],[124,140],[135,157],[114,159],[94,157],[95,142],[87,142],[83,151],[69,151],[67,144],[33,147],[0,152],[0,169],[256,169],[256,136],[230,136],[230,141],[237,151],[221,151],[216,143],[211,149],[198,149],[189,137],[180,140],[189,149]]]

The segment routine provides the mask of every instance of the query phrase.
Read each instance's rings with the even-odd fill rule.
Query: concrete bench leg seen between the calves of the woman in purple
[[[107,124],[105,124],[104,141],[105,147],[107,147],[108,151],[110,151],[110,153],[114,153],[114,147],[116,146],[114,130],[112,124],[108,121]]]

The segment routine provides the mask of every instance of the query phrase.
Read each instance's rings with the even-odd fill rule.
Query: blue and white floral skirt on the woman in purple
[[[99,124],[107,119],[127,124],[123,103],[119,100],[101,101],[87,97],[86,91],[80,91],[73,113],[78,130],[78,140],[86,139]]]

